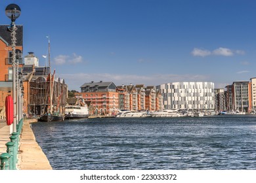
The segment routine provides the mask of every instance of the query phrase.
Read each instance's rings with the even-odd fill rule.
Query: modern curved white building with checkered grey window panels
[[[165,109],[214,110],[213,82],[170,82],[156,86]]]

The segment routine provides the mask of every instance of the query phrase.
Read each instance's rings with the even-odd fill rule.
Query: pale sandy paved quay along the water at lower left
[[[20,170],[52,170],[49,160],[35,141],[30,123],[36,120],[24,120],[20,134],[20,148],[18,154],[18,169]],[[6,152],[6,142],[10,139],[10,127],[5,122],[0,122],[0,154]]]

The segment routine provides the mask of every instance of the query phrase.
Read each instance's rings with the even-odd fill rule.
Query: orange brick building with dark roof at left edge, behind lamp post
[[[5,118],[5,98],[12,96],[12,46],[9,25],[0,25],[0,119]],[[16,58],[22,71],[23,25],[16,25]]]

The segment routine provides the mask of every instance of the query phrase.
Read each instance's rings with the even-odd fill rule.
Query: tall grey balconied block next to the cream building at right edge
[[[232,84],[233,110],[248,112],[249,110],[249,82],[238,81]]]

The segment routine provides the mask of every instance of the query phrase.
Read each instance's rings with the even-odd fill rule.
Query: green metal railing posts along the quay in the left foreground
[[[7,142],[7,152],[0,155],[1,159],[1,170],[16,170],[18,163],[18,143],[20,142],[20,133],[22,130],[23,118],[16,125],[16,131],[12,132],[10,137],[11,141]]]

